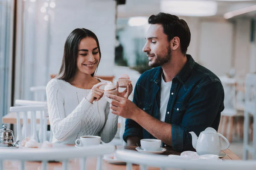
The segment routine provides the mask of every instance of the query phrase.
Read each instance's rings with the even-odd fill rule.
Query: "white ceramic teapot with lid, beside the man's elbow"
[[[225,150],[230,146],[227,138],[218,133],[212,127],[207,127],[204,131],[200,133],[199,137],[197,137],[194,132],[189,133],[192,136],[192,145],[199,155],[219,155],[221,153],[221,150]],[[225,140],[224,144],[221,143],[219,136],[221,136]]]

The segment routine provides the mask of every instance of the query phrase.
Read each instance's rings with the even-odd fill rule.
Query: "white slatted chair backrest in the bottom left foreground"
[[[25,170],[26,161],[42,161],[41,170],[47,170],[48,161],[62,161],[62,170],[68,170],[70,159],[80,158],[79,167],[84,170],[87,157],[97,157],[96,170],[102,170],[102,156],[115,151],[113,145],[94,145],[90,147],[52,147],[47,149],[2,149],[0,152],[0,169],[3,170],[4,160],[21,161],[20,170]],[[73,168],[72,168],[73,169]],[[75,168],[77,169],[77,168]],[[89,168],[91,169],[91,168]]]

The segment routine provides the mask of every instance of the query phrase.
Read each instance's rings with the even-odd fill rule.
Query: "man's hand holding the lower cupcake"
[[[106,97],[111,99],[111,113],[133,120],[137,118],[140,108],[131,102],[131,100],[113,94],[106,94]]]

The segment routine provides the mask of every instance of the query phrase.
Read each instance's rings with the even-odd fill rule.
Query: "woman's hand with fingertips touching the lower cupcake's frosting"
[[[90,90],[90,93],[87,95],[86,99],[90,102],[93,103],[93,101],[98,101],[99,99],[102,98],[104,94],[104,90],[99,89],[100,86],[102,85],[107,85],[106,82],[100,82],[96,85],[93,86],[93,88]]]

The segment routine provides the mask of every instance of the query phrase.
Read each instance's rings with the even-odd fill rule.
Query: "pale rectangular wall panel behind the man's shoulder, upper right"
[[[200,63],[216,75],[228,73],[233,54],[233,25],[202,22],[200,30]]]

